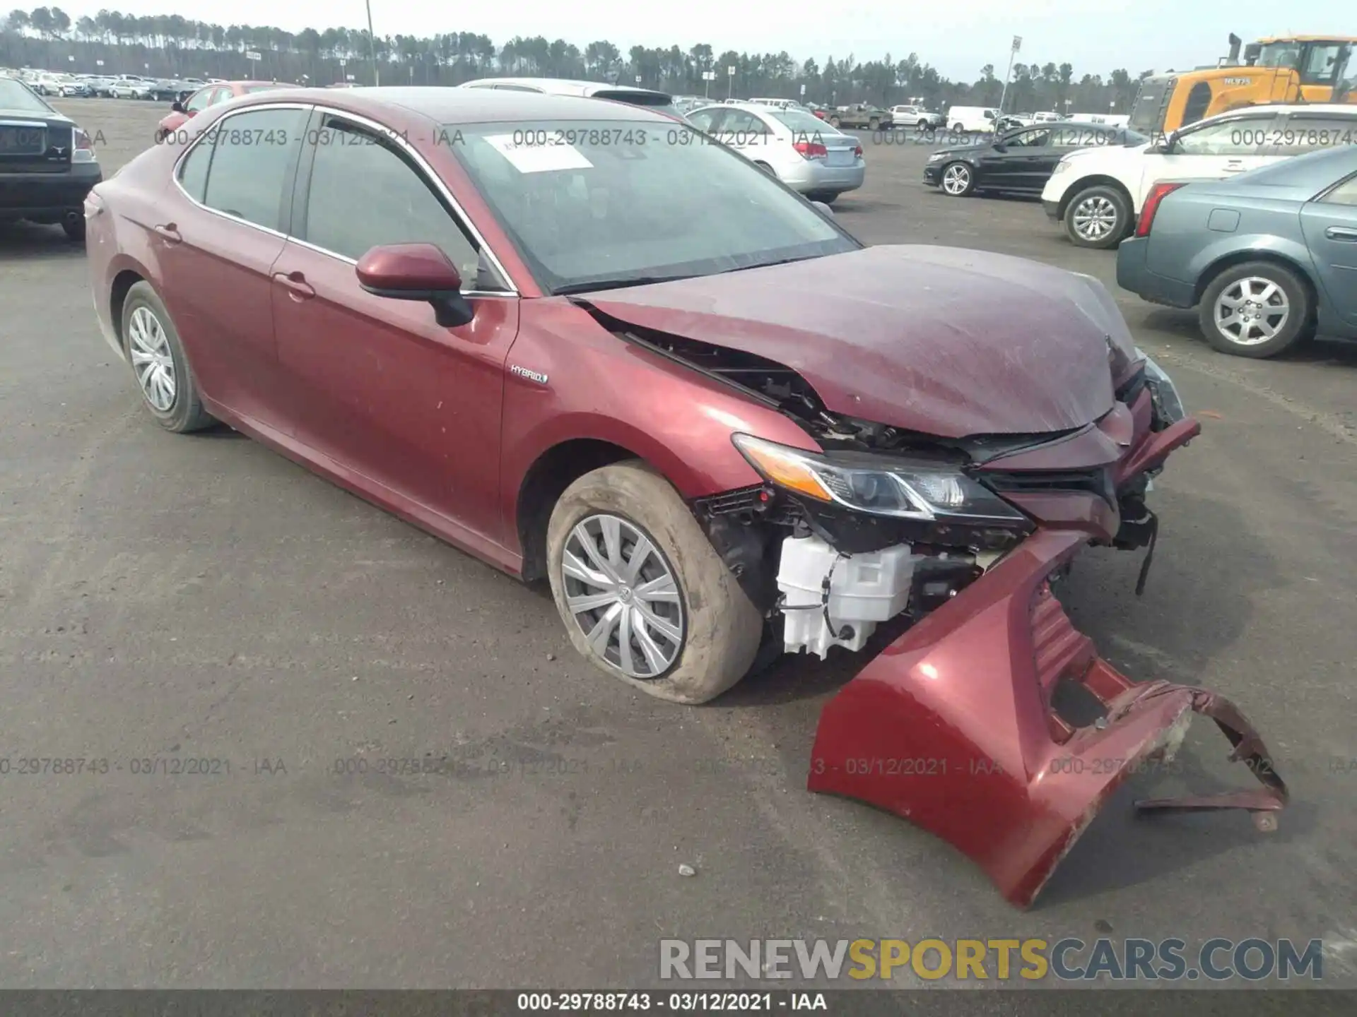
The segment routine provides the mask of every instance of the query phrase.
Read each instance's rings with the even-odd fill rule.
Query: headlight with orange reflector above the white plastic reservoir
[[[1026,521],[989,488],[953,466],[881,456],[832,460],[749,434],[735,434],[731,441],[769,484],[854,511],[923,521]]]

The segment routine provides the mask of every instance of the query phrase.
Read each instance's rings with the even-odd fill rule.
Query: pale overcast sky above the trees
[[[0,0],[11,7],[24,0]],[[347,26],[361,28],[361,0],[231,0],[227,4],[174,4],[172,0],[72,0],[60,4],[72,20],[100,7],[123,14],[180,14],[220,24],[273,24],[288,31]],[[563,38],[581,49],[608,39],[623,53],[634,45],[688,49],[708,42],[723,50],[778,53],[798,61],[814,57],[859,61],[889,53],[894,60],[917,53],[953,80],[973,80],[993,64],[1003,75],[1014,35],[1022,35],[1026,64],[1075,66],[1075,77],[1106,75],[1125,66],[1141,71],[1182,69],[1224,56],[1227,35],[1246,42],[1285,33],[1357,33],[1353,0],[957,0],[902,4],[898,0],[845,0],[805,4],[792,0],[558,0],[517,3],[433,3],[372,0],[377,35],[483,33],[495,43],[514,35]]]

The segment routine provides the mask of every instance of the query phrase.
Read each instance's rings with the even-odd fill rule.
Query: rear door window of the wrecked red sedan
[[[281,231],[288,172],[301,151],[305,125],[305,110],[254,110],[212,125],[194,149],[212,149],[202,203]]]

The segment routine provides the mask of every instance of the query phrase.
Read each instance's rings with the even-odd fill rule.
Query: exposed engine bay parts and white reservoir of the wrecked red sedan
[[[1153,540],[1144,504],[1149,476],[1115,485],[1107,469],[1010,473],[984,464],[1060,441],[1068,433],[977,435],[962,439],[916,434],[890,424],[830,412],[795,370],[761,357],[669,334],[615,325],[620,338],[735,386],[794,419],[845,468],[901,457],[969,473],[1003,498],[1010,492],[1095,494],[1124,521],[1111,542],[1139,548]],[[1144,389],[1137,373],[1118,397]],[[1156,412],[1156,430],[1163,424]],[[1035,521],[1012,511],[987,521],[968,515],[893,518],[799,496],[775,484],[730,491],[695,503],[695,513],[750,599],[769,624],[768,650],[860,651],[875,628],[902,613],[928,614],[978,579],[1030,536]]]

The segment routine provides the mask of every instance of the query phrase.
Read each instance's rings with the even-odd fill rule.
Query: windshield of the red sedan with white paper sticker
[[[714,275],[860,247],[768,174],[683,123],[444,130],[552,293]]]

